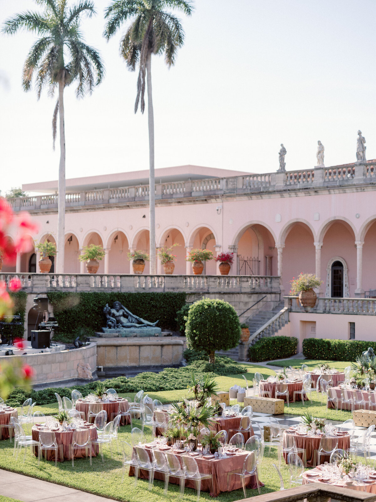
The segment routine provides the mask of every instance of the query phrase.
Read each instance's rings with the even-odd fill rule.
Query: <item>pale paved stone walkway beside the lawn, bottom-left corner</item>
[[[108,498],[0,469],[0,495],[24,502],[108,502]]]

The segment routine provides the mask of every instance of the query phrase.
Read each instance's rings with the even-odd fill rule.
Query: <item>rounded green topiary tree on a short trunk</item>
[[[205,350],[209,362],[215,362],[216,350],[236,347],[240,333],[239,317],[230,303],[204,298],[191,305],[185,324],[187,345],[194,350]]]

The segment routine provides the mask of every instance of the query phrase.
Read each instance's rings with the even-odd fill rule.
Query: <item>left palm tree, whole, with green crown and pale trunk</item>
[[[91,93],[94,85],[98,85],[104,76],[104,68],[99,53],[86,45],[80,31],[83,16],[90,18],[95,14],[91,0],[79,0],[69,7],[67,0],[35,0],[44,7],[42,13],[24,12],[8,19],[2,32],[8,35],[18,30],[27,30],[40,36],[31,48],[25,61],[23,87],[29,91],[32,87],[33,75],[38,99],[42,89],[48,86],[50,95],[59,88],[52,129],[55,150],[57,116],[60,126],[60,164],[59,164],[59,196],[58,196],[58,236],[56,272],[64,272],[64,231],[65,231],[65,130],[64,130],[64,89],[77,81],[76,95],[83,97]],[[68,62],[67,62],[68,61]],[[96,82],[95,76],[96,74]]]

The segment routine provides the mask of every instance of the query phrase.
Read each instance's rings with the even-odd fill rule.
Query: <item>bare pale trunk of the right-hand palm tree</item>
[[[149,123],[149,224],[150,224],[150,274],[156,274],[155,260],[155,180],[154,180],[154,112],[151,95],[151,54],[146,57],[147,111]]]

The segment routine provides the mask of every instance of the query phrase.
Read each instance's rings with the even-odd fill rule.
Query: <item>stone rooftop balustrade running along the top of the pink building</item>
[[[171,183],[155,184],[155,199],[176,199],[185,197],[208,197],[210,195],[244,194],[275,190],[296,190],[309,187],[338,187],[376,181],[375,166],[366,164],[347,164],[344,166],[299,169],[285,173],[264,173],[234,176],[228,178],[209,178]],[[137,185],[122,188],[89,190],[67,193],[66,207],[121,205],[140,201],[147,202],[149,186]],[[15,211],[48,211],[58,207],[58,195],[38,195],[9,199]]]

